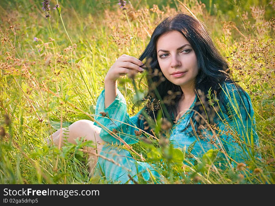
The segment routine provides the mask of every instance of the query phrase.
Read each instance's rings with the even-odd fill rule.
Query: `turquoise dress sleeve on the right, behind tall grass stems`
[[[237,163],[244,162],[255,155],[255,147],[259,146],[251,99],[234,84],[224,84],[221,93],[227,109],[221,106],[223,120],[217,124],[220,139],[232,159]]]

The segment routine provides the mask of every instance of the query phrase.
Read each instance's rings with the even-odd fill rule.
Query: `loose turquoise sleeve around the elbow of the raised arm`
[[[125,98],[119,90],[117,91],[118,95],[108,108],[105,108],[104,103],[105,89],[101,92],[97,100],[94,118],[104,127],[96,122],[94,125],[102,128],[100,138],[105,142],[123,144],[112,134],[113,132],[127,144],[137,143],[138,138],[135,135],[135,130],[138,128],[135,125],[141,111],[130,117],[127,113]]]

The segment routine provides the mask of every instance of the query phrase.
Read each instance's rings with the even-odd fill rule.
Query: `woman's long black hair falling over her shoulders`
[[[162,116],[167,118],[172,125],[175,117],[177,116],[176,108],[178,106],[178,100],[183,95],[183,92],[180,86],[171,83],[162,74],[157,58],[156,43],[162,34],[174,30],[182,33],[182,35],[191,44],[196,54],[199,68],[199,72],[195,80],[196,91],[207,94],[211,88],[211,93],[215,93],[219,99],[219,104],[222,103],[225,105],[226,103],[223,102],[224,98],[221,97],[222,94],[220,85],[225,82],[235,83],[232,78],[230,78],[231,75],[225,58],[222,57],[215,47],[206,27],[202,22],[184,13],[177,13],[174,16],[164,19],[155,28],[147,47],[139,57],[141,61],[145,59],[145,65],[149,68],[148,74],[145,75],[146,83],[148,85],[148,93],[145,95],[143,100],[133,105],[133,109],[137,105],[141,105],[141,103],[147,101],[143,111],[145,111],[149,118],[154,119],[161,110]],[[207,96],[197,98],[197,103],[193,108],[198,113],[202,114],[203,117],[206,117],[205,110],[199,102],[204,102],[207,104],[207,100]],[[208,107],[209,105],[203,106]],[[213,109],[210,109],[208,112],[213,113]],[[140,114],[137,126],[152,134],[151,128],[148,125],[148,118],[145,118],[147,115],[144,115],[143,113]],[[198,120],[194,116],[192,117],[192,120],[195,128],[197,129],[199,124],[201,124],[201,120]],[[211,123],[211,121],[213,122],[214,120],[212,118],[209,121]]]

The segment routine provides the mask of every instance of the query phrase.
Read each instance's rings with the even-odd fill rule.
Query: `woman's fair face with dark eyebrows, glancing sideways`
[[[194,87],[198,74],[196,54],[178,31],[162,34],[157,40],[158,63],[163,75],[181,88]]]

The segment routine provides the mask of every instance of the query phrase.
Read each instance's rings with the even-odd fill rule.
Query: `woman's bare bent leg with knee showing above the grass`
[[[55,133],[50,135],[47,139],[48,145],[51,144],[52,142],[52,137],[53,137],[53,143],[58,146],[59,145],[59,139],[60,139],[60,129],[57,130]],[[87,119],[82,119],[74,122],[71,124],[68,128],[62,128],[62,138],[66,137],[67,141],[69,143],[75,144],[75,139],[84,137],[86,140],[92,140],[95,142],[96,148],[93,148],[92,152],[93,153],[100,153],[104,141],[99,137],[101,128],[98,126],[94,125],[93,121],[87,120]],[[63,146],[63,139],[61,139],[61,146]],[[90,172],[93,171],[93,169],[96,166],[96,163],[98,161],[97,155],[93,155],[89,153],[89,162],[90,162]]]

